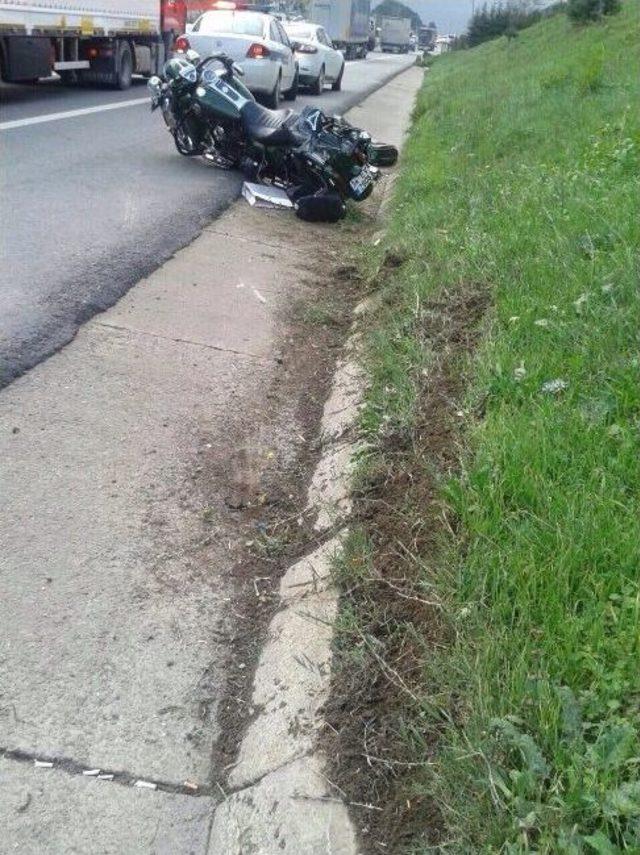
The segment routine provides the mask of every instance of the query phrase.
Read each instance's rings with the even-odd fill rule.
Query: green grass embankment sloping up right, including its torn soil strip
[[[628,2],[439,59],[363,259],[338,652],[371,851],[640,852],[639,35]]]

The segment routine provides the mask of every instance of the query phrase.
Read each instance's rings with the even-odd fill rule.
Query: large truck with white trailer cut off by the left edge
[[[127,89],[156,74],[184,32],[185,0],[0,0],[0,79]]]

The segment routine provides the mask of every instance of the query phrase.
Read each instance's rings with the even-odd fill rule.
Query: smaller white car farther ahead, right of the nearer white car
[[[344,56],[336,50],[327,31],[318,24],[307,21],[287,21],[287,35],[297,43],[296,56],[300,85],[311,87],[314,95],[321,95],[325,83],[330,83],[334,92],[342,88]]]

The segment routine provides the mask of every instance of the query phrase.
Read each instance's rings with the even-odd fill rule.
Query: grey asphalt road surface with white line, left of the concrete
[[[295,106],[343,112],[412,62],[371,54],[349,63],[342,92]],[[141,80],[127,92],[3,85],[0,107],[1,387],[189,243],[241,179],[181,158]]]

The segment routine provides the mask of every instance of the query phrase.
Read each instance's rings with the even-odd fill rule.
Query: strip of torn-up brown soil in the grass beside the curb
[[[433,364],[421,379],[414,429],[387,437],[364,473],[356,513],[366,545],[360,536],[338,570],[343,617],[325,750],[367,853],[397,853],[417,837],[434,843],[442,826],[437,806],[411,789],[413,773],[430,761],[423,749],[412,750],[411,733],[420,732],[423,744],[422,663],[450,638],[425,581],[438,572],[440,544],[452,525],[439,484],[457,468],[462,368],[487,301],[484,287],[465,285],[424,307],[412,334]],[[427,742],[435,747],[437,736]]]

